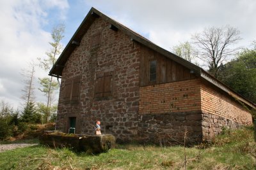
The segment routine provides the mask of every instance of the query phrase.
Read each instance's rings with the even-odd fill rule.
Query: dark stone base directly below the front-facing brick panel
[[[202,113],[189,111],[179,113],[140,114],[138,141],[160,145],[200,143],[202,141]]]

